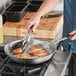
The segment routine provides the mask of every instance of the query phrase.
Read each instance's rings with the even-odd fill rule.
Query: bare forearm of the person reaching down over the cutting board
[[[50,12],[58,2],[59,0],[44,0],[41,7],[37,11],[37,15],[41,17],[42,15]]]

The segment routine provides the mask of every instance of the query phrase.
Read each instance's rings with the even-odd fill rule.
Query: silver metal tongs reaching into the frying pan
[[[24,52],[28,52],[27,47],[28,47],[30,39],[32,37],[32,33],[33,33],[33,29],[32,28],[33,28],[33,26],[30,27],[30,29],[28,30],[27,34],[22,39],[23,40],[22,47],[21,47],[22,48],[22,52],[13,53],[13,55],[15,55],[15,54],[21,54],[21,53],[24,53]]]

